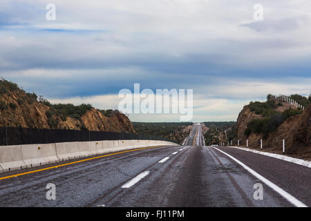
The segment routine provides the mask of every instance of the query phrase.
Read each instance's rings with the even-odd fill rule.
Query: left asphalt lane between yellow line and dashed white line
[[[0,180],[0,206],[86,206],[180,146],[148,148]],[[46,185],[56,200],[46,200]]]

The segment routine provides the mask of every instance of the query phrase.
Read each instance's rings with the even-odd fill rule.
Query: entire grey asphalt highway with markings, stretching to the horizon
[[[205,146],[200,124],[184,144],[2,179],[0,206],[311,205],[308,167],[237,148]],[[55,184],[55,200],[46,199],[49,183]]]

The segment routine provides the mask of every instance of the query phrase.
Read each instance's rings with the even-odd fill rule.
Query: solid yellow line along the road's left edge
[[[28,172],[25,172],[25,173],[17,173],[17,174],[15,174],[15,175],[8,175],[8,176],[6,176],[6,177],[0,177],[0,180],[6,180],[6,179],[8,179],[8,178],[18,177],[18,176],[20,176],[20,175],[26,175],[26,174],[30,174],[30,173],[37,173],[37,172],[40,172],[40,171],[46,171],[46,170],[50,170],[50,169],[55,169],[55,168],[58,168],[58,167],[61,167],[61,166],[68,166],[68,165],[70,165],[70,164],[77,164],[77,163],[80,163],[80,162],[85,162],[85,161],[88,161],[88,160],[94,160],[94,159],[98,159],[98,158],[102,158],[102,157],[109,157],[109,156],[111,156],[111,155],[117,155],[117,154],[120,154],[120,153],[128,153],[128,152],[133,152],[133,151],[141,151],[141,150],[144,150],[144,149],[156,148],[156,147],[160,147],[160,146],[144,147],[144,148],[138,148],[138,149],[131,150],[131,151],[122,151],[122,152],[110,153],[110,154],[102,155],[102,156],[98,156],[98,157],[91,157],[91,158],[88,158],[88,159],[78,160],[78,161],[70,162],[70,163],[67,163],[67,164],[60,164],[60,165],[57,165],[57,166],[50,166],[50,167],[46,167],[46,168],[39,169],[39,170],[35,170],[35,171],[28,171]]]

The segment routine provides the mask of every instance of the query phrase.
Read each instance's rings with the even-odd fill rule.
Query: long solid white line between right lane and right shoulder
[[[211,146],[212,148],[216,149],[217,151],[220,151],[220,149]],[[285,198],[286,200],[288,200],[288,202],[294,204],[294,206],[297,207],[308,207],[307,205],[303,204],[303,202],[301,202],[300,200],[297,200],[296,198],[294,198],[294,196],[290,195],[290,193],[284,191],[283,189],[281,189],[281,187],[276,186],[276,184],[270,182],[270,180],[267,180],[265,177],[263,177],[262,175],[260,175],[259,173],[257,173],[256,171],[254,171],[253,169],[250,169],[248,166],[246,166],[245,164],[243,164],[243,162],[241,162],[240,160],[237,160],[236,158],[232,157],[232,155],[229,155],[228,153],[225,153],[224,151],[220,151],[221,153],[227,155],[228,157],[230,157],[232,160],[234,160],[235,162],[237,162],[238,164],[240,164],[241,166],[244,167],[244,169],[246,169],[247,171],[249,171],[249,173],[252,173],[252,175],[254,175],[255,177],[257,177],[259,180],[261,180],[262,182],[264,182],[265,184],[267,184],[267,186],[270,186],[271,189],[273,189],[274,191],[276,191],[276,193],[279,193],[281,196],[283,196],[283,198]]]

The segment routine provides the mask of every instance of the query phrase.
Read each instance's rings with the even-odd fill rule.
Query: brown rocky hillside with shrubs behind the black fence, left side
[[[135,133],[129,118],[119,111],[50,104],[5,79],[0,80],[0,126]]]

